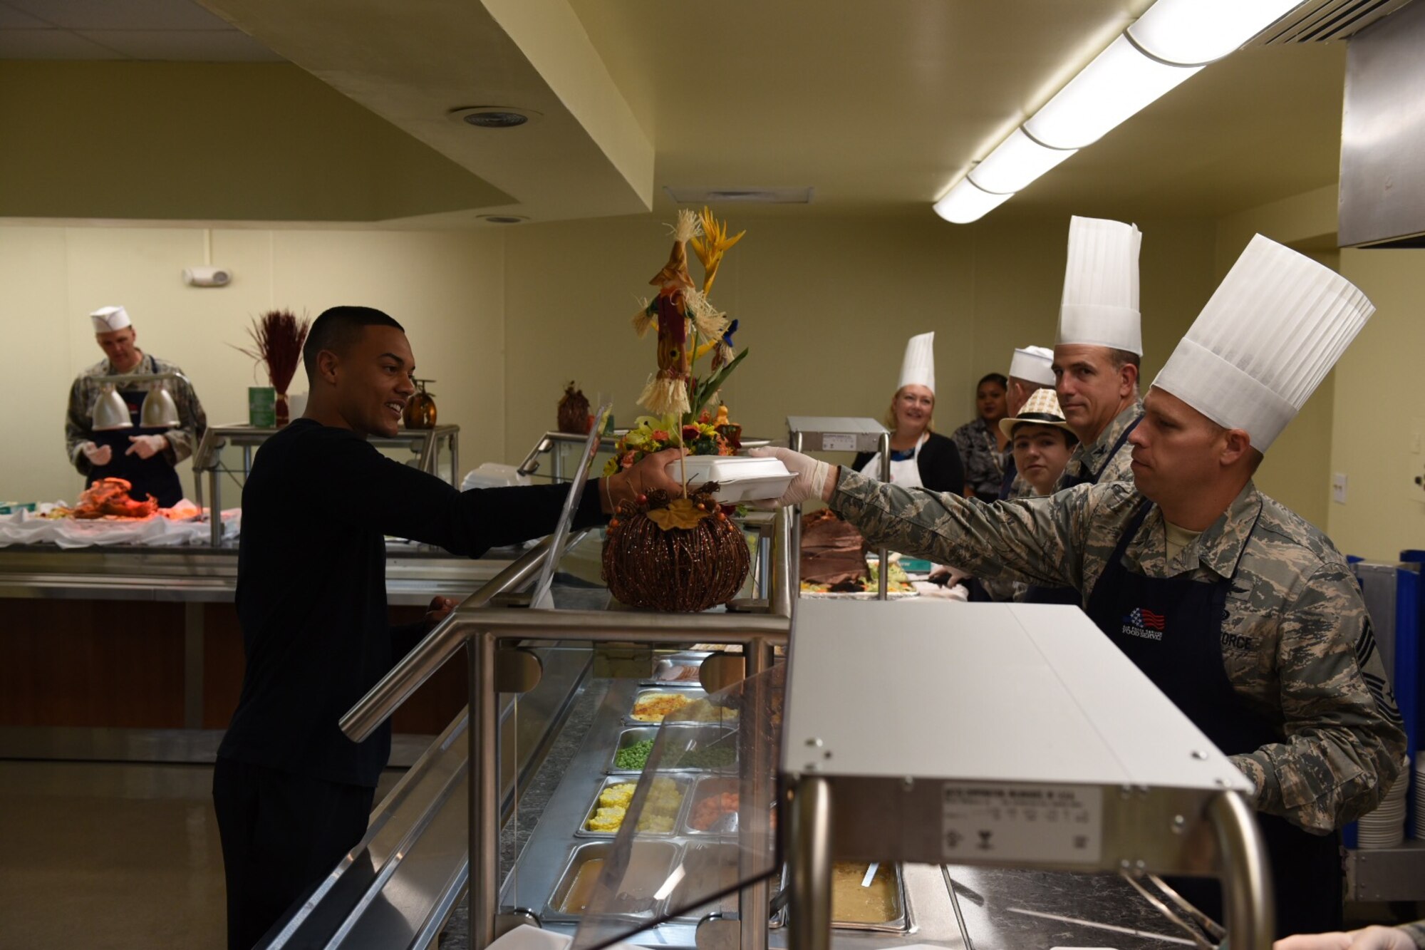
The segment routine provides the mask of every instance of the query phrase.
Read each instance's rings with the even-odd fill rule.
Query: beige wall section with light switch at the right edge
[[[1345,505],[1328,525],[1341,551],[1394,561],[1425,548],[1425,251],[1344,250],[1341,272],[1377,311],[1335,369],[1331,468],[1345,472]]]

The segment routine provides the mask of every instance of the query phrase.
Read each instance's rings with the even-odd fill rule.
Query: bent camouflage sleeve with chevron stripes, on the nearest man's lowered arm
[[[1405,755],[1365,603],[1344,563],[1322,565],[1281,611],[1277,672],[1287,739],[1233,762],[1257,786],[1257,809],[1325,834],[1375,807]]]

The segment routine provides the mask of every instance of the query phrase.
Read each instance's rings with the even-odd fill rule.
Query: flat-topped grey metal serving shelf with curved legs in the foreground
[[[1270,950],[1251,783],[1082,611],[808,601],[797,623],[792,950],[829,946],[832,859],[1217,876],[1233,947]]]

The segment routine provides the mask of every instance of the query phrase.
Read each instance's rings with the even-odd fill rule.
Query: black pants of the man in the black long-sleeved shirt
[[[376,790],[218,759],[228,950],[251,950],[366,833]]]

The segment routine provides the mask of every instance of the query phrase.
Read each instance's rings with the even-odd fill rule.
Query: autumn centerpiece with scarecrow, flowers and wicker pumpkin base
[[[718,311],[708,292],[722,255],[741,240],[711,211],[680,211],[668,262],[650,281],[658,294],[634,317],[643,337],[657,328],[658,371],[638,404],[653,415],[640,417],[617,442],[604,468],[613,475],[644,455],[664,448],[687,448],[693,455],[732,455],[740,427],[728,422],[725,407],[717,418],[705,409],[732,369],[747,357],[734,354],[737,321]],[[688,274],[687,247],[703,264],[703,285]],[[695,367],[708,359],[704,378]],[[731,438],[730,438],[731,435]],[[608,523],[603,576],[610,592],[628,606],[697,612],[737,595],[751,568],[747,538],[714,499],[717,485],[695,485],[687,496],[650,492],[621,502]]]

